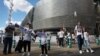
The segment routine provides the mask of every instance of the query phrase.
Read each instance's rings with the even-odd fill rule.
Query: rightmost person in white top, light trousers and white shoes
[[[90,43],[89,43],[89,34],[88,32],[85,30],[85,28],[83,29],[84,31],[84,47],[86,49],[86,52],[90,52],[93,53],[94,51],[91,49],[90,47]]]

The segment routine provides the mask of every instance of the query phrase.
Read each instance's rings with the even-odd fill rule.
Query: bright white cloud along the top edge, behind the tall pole
[[[28,13],[29,10],[33,7],[27,0],[13,0],[14,6],[13,10],[22,11]],[[4,0],[4,5],[10,8],[10,2],[8,0]]]

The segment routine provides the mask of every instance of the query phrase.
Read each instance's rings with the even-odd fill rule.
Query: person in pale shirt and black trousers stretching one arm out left
[[[35,35],[34,31],[30,28],[30,24],[27,23],[25,27],[19,26],[18,24],[15,24],[15,27],[18,27],[21,32],[23,33],[23,46],[24,46],[24,53],[22,54],[23,56],[27,54],[30,56],[30,51],[31,51],[31,37]],[[26,53],[26,49],[28,47],[28,53]]]

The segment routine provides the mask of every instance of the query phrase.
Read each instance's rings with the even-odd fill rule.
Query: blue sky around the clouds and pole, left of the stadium
[[[16,2],[17,0],[15,0],[15,3],[17,4]],[[19,0],[21,1],[21,0]],[[22,0],[22,1],[26,1],[26,3],[30,3],[28,6],[33,6],[39,1],[39,0]],[[21,2],[19,2],[21,3]],[[27,3],[27,4],[28,4]],[[23,3],[21,3],[23,4]],[[25,6],[27,6],[27,4]],[[23,6],[24,6],[23,5]],[[8,8],[7,7],[7,4],[5,5],[4,4],[4,0],[0,0],[0,29],[1,28],[4,28],[6,26],[6,21],[7,21],[7,17],[8,17]],[[25,15],[27,15],[27,11],[26,10],[22,10],[22,9],[25,9],[25,8],[20,8],[20,6],[18,6],[18,9],[17,9],[17,5],[15,5],[15,11],[13,12],[13,21],[22,21],[25,17]]]

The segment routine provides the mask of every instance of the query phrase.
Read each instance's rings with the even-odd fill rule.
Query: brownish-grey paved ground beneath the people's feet
[[[91,45],[94,49],[94,53],[86,53],[83,54],[78,53],[77,45],[73,45],[73,48],[59,48],[57,45],[53,45],[51,50],[49,51],[49,56],[100,56],[100,46],[96,44]],[[31,56],[39,56],[40,48],[38,46],[33,46],[31,48]],[[5,56],[2,54],[2,47],[0,47],[0,56]],[[22,53],[15,53],[6,55],[6,56],[22,56]]]

